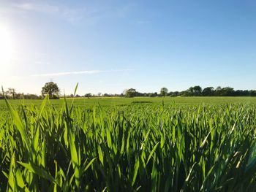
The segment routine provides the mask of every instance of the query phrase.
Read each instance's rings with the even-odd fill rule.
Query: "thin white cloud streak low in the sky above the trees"
[[[56,77],[56,76],[65,76],[72,74],[99,74],[106,72],[128,72],[133,71],[133,69],[113,69],[113,70],[87,70],[87,71],[79,71],[79,72],[57,72],[57,73],[47,73],[47,74],[31,74],[31,77]]]

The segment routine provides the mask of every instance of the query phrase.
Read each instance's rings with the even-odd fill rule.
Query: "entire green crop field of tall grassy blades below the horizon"
[[[256,98],[0,100],[0,191],[256,191]]]

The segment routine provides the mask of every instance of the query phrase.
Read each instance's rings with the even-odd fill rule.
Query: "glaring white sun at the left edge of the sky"
[[[7,28],[0,26],[0,66],[10,65],[12,58],[12,38]]]

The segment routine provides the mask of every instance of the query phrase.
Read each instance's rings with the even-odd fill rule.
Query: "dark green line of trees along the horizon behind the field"
[[[0,93],[0,99],[4,99],[4,96],[7,99],[43,99],[45,95],[48,94],[50,99],[59,99],[60,97],[60,89],[55,82],[46,82],[42,87],[41,95],[37,94],[24,94],[24,93],[16,93],[14,88],[8,88],[7,91]],[[121,97],[135,97],[135,96],[256,96],[256,90],[234,90],[234,88],[230,87],[220,87],[217,88],[207,87],[201,88],[199,85],[192,86],[188,88],[186,91],[168,91],[167,88],[161,88],[159,93],[140,93],[136,91],[135,88],[129,88],[121,94],[109,94],[109,93],[98,93],[97,95],[92,93],[86,93],[84,95],[67,95],[66,97],[113,97],[113,96],[121,96]]]

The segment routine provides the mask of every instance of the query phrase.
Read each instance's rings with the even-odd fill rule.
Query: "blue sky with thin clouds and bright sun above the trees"
[[[256,89],[256,1],[0,1],[0,85]]]

